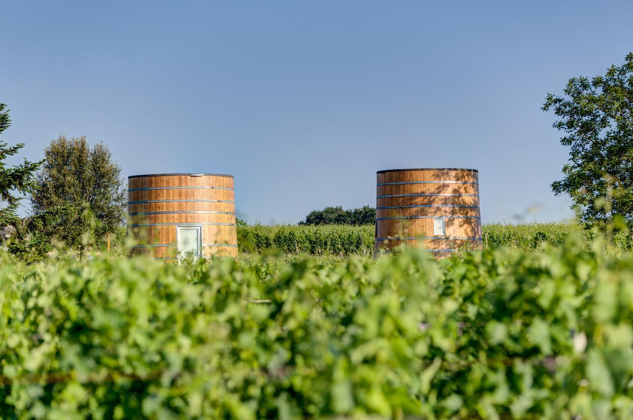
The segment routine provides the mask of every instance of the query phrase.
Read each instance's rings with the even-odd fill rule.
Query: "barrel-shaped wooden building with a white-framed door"
[[[133,175],[127,191],[133,254],[237,257],[232,175]]]

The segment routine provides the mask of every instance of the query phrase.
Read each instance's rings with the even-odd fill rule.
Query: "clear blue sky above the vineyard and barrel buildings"
[[[622,63],[632,16],[630,0],[7,1],[1,138],[35,160],[84,134],[126,177],[233,174],[251,222],[375,205],[375,172],[407,167],[479,169],[484,222],[560,220],[567,150],[539,108]]]

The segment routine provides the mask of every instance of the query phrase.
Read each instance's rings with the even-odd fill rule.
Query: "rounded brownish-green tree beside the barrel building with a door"
[[[51,237],[83,248],[89,236],[102,241],[106,233],[120,229],[126,206],[121,167],[103,143],[91,147],[85,136],[60,136],[44,155],[31,196],[35,214],[60,206],[76,209],[62,217]]]

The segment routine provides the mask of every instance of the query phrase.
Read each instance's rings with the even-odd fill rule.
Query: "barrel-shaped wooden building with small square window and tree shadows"
[[[376,252],[405,245],[446,257],[482,248],[477,170],[380,170],[376,189]]]

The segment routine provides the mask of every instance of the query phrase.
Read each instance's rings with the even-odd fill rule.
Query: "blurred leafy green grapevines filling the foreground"
[[[1,257],[0,418],[631,418],[633,255],[558,245]]]

